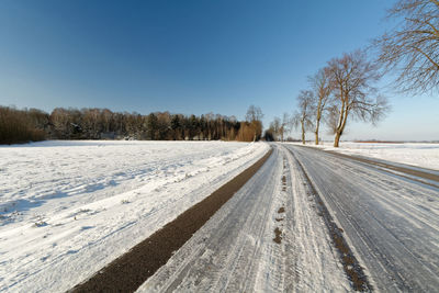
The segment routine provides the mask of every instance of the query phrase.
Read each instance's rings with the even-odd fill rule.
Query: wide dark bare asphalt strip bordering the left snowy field
[[[164,266],[267,161],[261,159],[69,292],[134,292]]]

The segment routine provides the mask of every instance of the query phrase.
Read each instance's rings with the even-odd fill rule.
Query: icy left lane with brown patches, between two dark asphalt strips
[[[261,169],[139,292],[350,291],[293,156],[274,147]]]

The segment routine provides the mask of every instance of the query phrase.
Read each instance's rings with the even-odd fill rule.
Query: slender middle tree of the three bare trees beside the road
[[[315,76],[309,77],[309,84],[315,93],[315,144],[318,145],[318,132],[323,113],[327,110],[330,92],[333,90],[327,68],[319,69]]]

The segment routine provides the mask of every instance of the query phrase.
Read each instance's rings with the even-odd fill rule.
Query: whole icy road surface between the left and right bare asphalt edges
[[[322,150],[273,148],[139,292],[351,291],[350,253],[365,290],[439,288],[437,188]]]

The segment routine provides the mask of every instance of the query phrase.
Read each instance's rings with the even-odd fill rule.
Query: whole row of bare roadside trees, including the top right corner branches
[[[303,144],[305,133],[312,131],[318,145],[320,124],[325,123],[338,147],[349,121],[375,125],[390,110],[375,86],[389,72],[396,76],[394,89],[398,92],[438,93],[439,1],[399,0],[387,18],[399,20],[393,31],[374,40],[367,49],[330,59],[308,77],[308,88],[299,93],[293,116],[282,123],[275,117],[266,135],[283,140],[285,125],[290,125],[301,131]],[[369,58],[368,52],[378,57]]]

